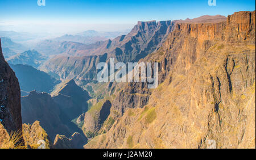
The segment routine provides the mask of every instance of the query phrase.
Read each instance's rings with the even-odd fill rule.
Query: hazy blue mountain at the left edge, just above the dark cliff
[[[2,41],[2,48],[9,48],[14,50],[14,52],[24,52],[24,50],[28,49],[24,47],[22,44],[15,43],[13,40],[11,40],[8,37],[1,37],[1,41]]]

